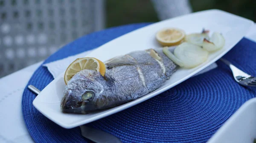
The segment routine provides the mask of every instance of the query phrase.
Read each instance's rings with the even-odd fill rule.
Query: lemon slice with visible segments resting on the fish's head
[[[96,70],[102,76],[105,75],[106,67],[103,62],[96,58],[79,58],[72,62],[68,67],[64,75],[65,84],[79,71],[81,70]]]

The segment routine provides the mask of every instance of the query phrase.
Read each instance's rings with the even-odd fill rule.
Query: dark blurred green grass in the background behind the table
[[[256,0],[190,0],[193,11],[221,9],[256,22]],[[157,22],[150,0],[106,0],[106,27]]]

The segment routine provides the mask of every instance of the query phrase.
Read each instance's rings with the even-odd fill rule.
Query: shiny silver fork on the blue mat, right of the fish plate
[[[239,68],[235,67],[233,64],[231,64],[226,59],[221,58],[220,60],[230,67],[236,82],[238,82],[239,84],[241,84],[243,86],[256,87],[256,78],[255,77],[248,75],[247,73],[244,73],[242,70],[239,70]]]

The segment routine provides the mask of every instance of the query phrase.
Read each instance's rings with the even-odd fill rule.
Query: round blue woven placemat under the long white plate
[[[44,63],[63,59],[141,28],[149,23],[125,25],[98,31],[77,39],[50,56]],[[224,58],[241,70],[256,75],[256,43],[242,39]],[[109,132],[124,143],[136,142],[206,142],[247,100],[256,88],[237,84],[230,69],[221,62],[218,68],[192,77],[172,89],[141,104],[88,126]],[[29,84],[43,90],[53,80],[46,67],[40,66]],[[32,105],[35,94],[23,92],[22,112],[30,135],[36,143],[86,143],[80,128],[64,129],[42,115]]]

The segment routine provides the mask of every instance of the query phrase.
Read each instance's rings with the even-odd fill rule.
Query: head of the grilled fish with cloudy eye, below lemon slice
[[[68,81],[61,100],[62,112],[86,114],[97,109],[95,101],[107,88],[104,77],[95,70],[81,70]]]

